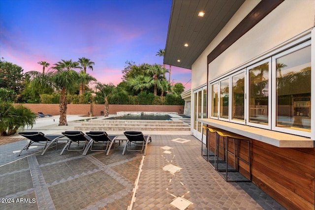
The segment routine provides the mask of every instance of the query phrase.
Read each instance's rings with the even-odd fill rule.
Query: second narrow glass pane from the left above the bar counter
[[[220,116],[228,119],[229,78],[220,81]]]

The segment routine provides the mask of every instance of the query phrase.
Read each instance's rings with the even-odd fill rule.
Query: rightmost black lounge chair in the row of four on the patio
[[[149,141],[152,142],[150,135],[144,136],[141,131],[125,131],[125,136],[127,137],[127,142],[123,150],[123,155],[125,150],[129,151],[143,151],[143,155],[146,155],[146,150]],[[130,147],[141,147],[141,150],[130,149]]]

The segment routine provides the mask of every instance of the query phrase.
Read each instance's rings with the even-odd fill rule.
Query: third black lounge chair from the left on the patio
[[[113,143],[115,142],[115,139],[118,137],[118,136],[109,136],[105,131],[90,131],[90,132],[87,132],[86,134],[90,136],[91,140],[88,146],[86,147],[86,149],[83,151],[83,155],[86,155],[89,149],[91,151],[106,151],[107,150],[106,155],[108,155],[109,150],[111,149]],[[93,146],[106,146],[106,148],[105,150],[95,150],[93,149]]]

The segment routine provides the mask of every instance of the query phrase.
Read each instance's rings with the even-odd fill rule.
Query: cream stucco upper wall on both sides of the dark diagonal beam
[[[191,67],[191,89],[206,84],[207,56],[260,0],[247,0]],[[315,0],[285,0],[218,58],[209,63],[209,81],[315,25]]]

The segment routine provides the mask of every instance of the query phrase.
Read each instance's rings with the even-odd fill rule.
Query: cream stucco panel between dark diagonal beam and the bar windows
[[[285,0],[209,63],[209,81],[312,29],[314,22],[315,0]]]

